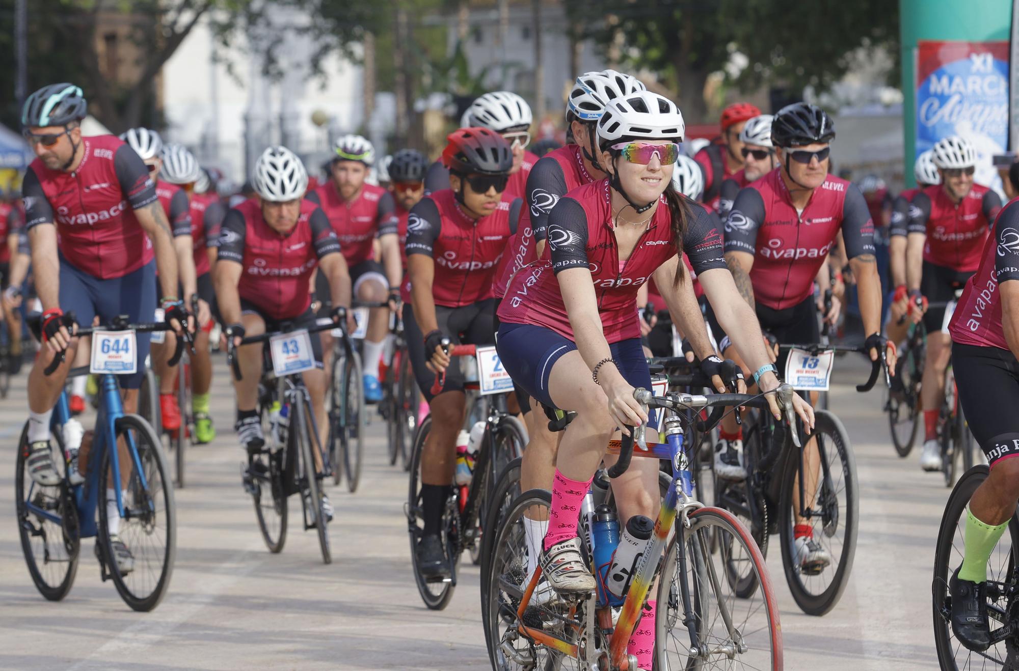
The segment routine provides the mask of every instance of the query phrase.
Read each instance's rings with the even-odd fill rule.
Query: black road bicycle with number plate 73
[[[782,344],[781,349],[799,349],[809,357],[823,351],[864,352],[860,346]],[[813,364],[813,361],[807,361]],[[883,355],[871,362],[867,382],[858,392],[873,388],[884,370]],[[806,392],[798,392],[809,401]],[[800,433],[802,429],[800,429]],[[814,432],[798,450],[789,433],[768,412],[751,413],[743,422],[743,481],[715,480],[715,505],[739,517],[767,554],[769,537],[777,534],[786,582],[797,606],[808,615],[820,616],[839,603],[849,582],[856,554],[859,527],[859,481],[856,457],[846,428],[828,410],[816,409]],[[811,448],[811,446],[816,446]],[[796,550],[797,526],[810,527],[809,538],[832,556],[832,563],[804,567]],[[756,585],[752,576],[739,582],[738,596],[747,597]]]

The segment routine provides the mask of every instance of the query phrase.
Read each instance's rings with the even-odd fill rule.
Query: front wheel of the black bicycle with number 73
[[[838,553],[839,564],[827,588],[819,593],[810,592],[808,586],[801,581],[801,572],[794,565],[793,547],[795,541],[793,526],[796,521],[793,514],[793,496],[794,492],[798,489],[794,486],[799,471],[798,459],[796,458],[791,461],[791,465],[783,479],[782,501],[779,504],[779,530],[780,543],[782,545],[782,563],[786,573],[786,581],[793,593],[793,599],[804,613],[820,616],[835,608],[836,604],[842,598],[846,585],[849,583],[849,575],[853,570],[853,560],[856,556],[856,536],[860,518],[860,495],[859,480],[856,474],[856,456],[853,454],[852,444],[849,442],[849,436],[842,421],[832,412],[825,410],[818,410],[814,414],[814,432],[811,434],[811,439],[817,442],[818,450],[821,450],[822,447],[825,448],[824,452],[826,452],[826,443],[832,443],[835,447],[835,456],[839,459],[839,463],[835,463],[828,458],[829,473],[835,482],[823,485],[827,488],[824,491],[821,490],[822,483],[818,483],[818,492],[827,495],[828,503],[824,508],[825,516],[823,517],[827,522],[821,527],[823,536],[833,538],[837,527],[845,519],[845,535],[842,542],[842,550]],[[801,432],[800,435],[802,436],[803,433]],[[822,441],[822,436],[827,436],[829,439]],[[787,440],[789,439],[787,438]],[[823,453],[822,458],[826,458],[823,456]],[[838,473],[840,472],[844,483],[842,491],[846,493],[846,505],[844,507],[839,505],[837,501],[839,491]],[[821,474],[819,474],[819,479]],[[820,496],[821,494],[818,494],[815,497],[815,503]],[[830,533],[828,533],[828,529],[830,529]],[[814,534],[814,540],[818,540],[817,534]],[[833,555],[833,559],[835,559],[836,553],[830,554]]]

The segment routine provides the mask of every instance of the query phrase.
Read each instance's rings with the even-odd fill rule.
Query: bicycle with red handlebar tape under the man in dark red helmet
[[[446,347],[450,357],[477,355],[475,345],[450,346],[447,341],[444,341],[443,346]],[[442,391],[445,384],[444,377],[443,375],[436,376],[431,390],[433,396]],[[468,382],[466,389],[480,391],[480,384]],[[425,441],[431,431],[432,418],[430,414],[418,427],[418,432],[414,437],[414,448],[411,452],[410,494],[408,503],[404,507],[404,513],[407,515],[408,535],[411,541],[415,583],[421,594],[421,599],[431,610],[442,610],[452,598],[453,590],[457,586],[457,568],[464,550],[470,550],[472,561],[475,564],[481,561],[481,539],[483,537],[481,523],[485,520],[488,507],[491,505],[490,496],[496,476],[514,459],[523,456],[524,447],[527,445],[527,430],[521,425],[520,420],[507,412],[505,394],[497,393],[482,398],[485,399],[482,404],[485,431],[475,456],[474,477],[470,485],[453,484],[442,514],[440,537],[449,563],[449,577],[446,578],[426,577],[421,574],[418,567],[418,541],[424,532],[421,519],[421,459]]]

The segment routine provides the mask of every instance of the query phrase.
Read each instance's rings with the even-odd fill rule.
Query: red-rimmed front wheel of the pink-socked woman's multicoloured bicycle
[[[688,572],[690,572],[691,566],[693,571],[690,572],[691,575],[696,576],[694,589],[691,590],[691,598],[693,600],[693,609],[697,619],[703,624],[709,622],[711,624],[722,623],[721,617],[705,617],[705,615],[710,615],[712,610],[717,613],[720,603],[726,603],[730,609],[735,609],[741,604],[747,604],[747,615],[746,618],[749,619],[752,616],[763,613],[765,622],[755,623],[754,626],[747,624],[747,619],[742,623],[736,621],[736,617],[733,618],[733,624],[736,629],[747,636],[755,636],[750,640],[744,640],[747,651],[749,654],[755,650],[762,650],[765,647],[768,651],[764,654],[766,658],[766,664],[762,662],[736,662],[736,667],[743,668],[744,666],[748,668],[771,668],[774,670],[781,670],[783,668],[783,642],[782,642],[782,623],[780,621],[777,600],[774,596],[774,585],[771,582],[771,578],[767,572],[767,566],[764,561],[764,557],[760,554],[760,550],[757,548],[757,544],[754,542],[753,538],[750,536],[750,532],[740,523],[740,521],[728,510],[722,508],[704,507],[698,508],[692,511],[689,516],[690,526],[686,527],[683,525],[682,520],[677,520],[677,534],[673,541],[669,543],[668,547],[665,549],[664,561],[661,564],[661,573],[658,578],[658,613],[655,620],[655,657],[656,657],[656,668],[685,668],[685,669],[702,669],[702,668],[714,668],[708,660],[703,660],[700,658],[692,658],[691,648],[690,648],[690,636],[686,628],[682,628],[682,633],[676,635],[678,639],[675,649],[669,650],[669,629],[676,624],[683,623],[683,617],[679,614],[680,607],[680,595],[681,590],[674,588],[674,582],[676,578],[669,578],[668,576],[677,575],[678,568],[678,546],[677,539],[682,538],[684,546],[691,546],[693,549],[693,557],[690,553],[687,553],[687,566]],[[734,545],[739,545],[742,548],[742,552],[746,554],[747,561],[752,564],[753,570],[757,574],[758,591],[759,595],[752,600],[736,600],[728,599],[721,595],[714,595],[714,603],[711,603],[711,595],[709,590],[711,589],[712,581],[710,580],[711,573],[715,573],[717,578],[717,584],[720,586],[722,584],[728,584],[728,582],[720,576],[717,576],[717,570],[714,568],[712,559],[712,554],[710,552],[711,537],[714,536],[728,536],[733,539]],[[694,541],[691,543],[691,541]],[[693,561],[689,561],[692,559]],[[706,576],[709,578],[705,581],[703,578]],[[697,582],[699,580],[699,582]],[[704,603],[707,602],[707,603]],[[677,614],[672,614],[669,608],[676,607]],[[679,617],[677,615],[680,615]],[[732,612],[731,612],[732,616]],[[763,624],[763,626],[761,625]],[[703,635],[705,628],[703,626],[698,627],[698,633]],[[675,635],[675,634],[674,634]],[[727,632],[728,637],[728,632]],[[720,636],[715,636],[714,638],[720,638]],[[706,644],[705,644],[706,645]],[[725,644],[723,644],[725,645]],[[679,658],[677,662],[671,662],[671,656]],[[667,662],[667,664],[666,664]],[[732,661],[731,661],[732,662]],[[732,668],[732,667],[727,667]]]

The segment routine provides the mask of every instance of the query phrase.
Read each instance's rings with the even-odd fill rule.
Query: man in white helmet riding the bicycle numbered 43
[[[239,345],[245,335],[315,325],[311,310],[312,274],[320,267],[332,298],[333,320],[351,305],[351,277],[336,231],[322,209],[304,200],[308,173],[301,159],[285,147],[270,147],[255,164],[259,200],[245,201],[226,213],[219,235],[214,279],[225,338]],[[304,374],[311,396],[319,440],[325,444],[329,423],[325,413],[326,375],[321,370],[322,341],[311,337],[317,368]],[[235,429],[249,454],[262,449],[265,435],[258,416],[258,385],[262,378],[263,348],[246,345],[237,350],[240,380]],[[312,450],[315,469],[322,472],[320,450]],[[332,517],[332,505],[323,495],[323,510]]]

